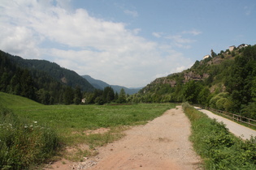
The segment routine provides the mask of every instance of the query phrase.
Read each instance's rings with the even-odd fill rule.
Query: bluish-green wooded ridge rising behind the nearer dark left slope
[[[65,69],[54,62],[46,60],[28,60],[18,56],[9,55],[12,62],[28,70],[40,70],[49,74],[53,79],[70,87],[80,87],[82,91],[93,91],[94,87],[73,70]]]

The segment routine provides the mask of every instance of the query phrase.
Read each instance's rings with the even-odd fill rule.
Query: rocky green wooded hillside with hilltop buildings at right
[[[256,119],[256,45],[227,49],[181,73],[155,79],[132,102],[202,104]]]

